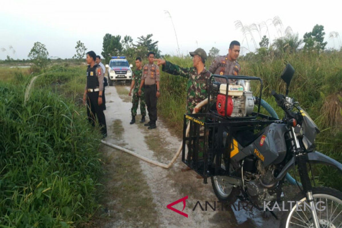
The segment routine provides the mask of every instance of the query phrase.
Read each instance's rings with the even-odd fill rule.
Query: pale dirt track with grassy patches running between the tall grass
[[[132,107],[128,87],[124,85],[106,88],[106,121],[110,143],[121,145],[149,159],[168,163],[176,152],[181,139],[172,135],[162,120],[157,129],[147,130],[140,123],[130,124]],[[147,118],[148,121],[148,118]],[[277,227],[271,217],[262,219],[255,209],[246,211],[238,203],[221,210],[210,179],[196,178],[194,171],[181,172],[185,167],[179,157],[168,170],[148,164],[118,150],[103,146],[106,161],[108,195],[104,201],[108,214],[99,227]],[[167,209],[167,205],[188,196],[184,213],[188,217]],[[206,206],[206,201],[215,211]],[[201,204],[203,210],[198,205]],[[197,203],[196,208],[195,205]],[[180,211],[183,203],[174,207]],[[241,205],[240,205],[241,207]],[[239,210],[240,209],[240,210]]]

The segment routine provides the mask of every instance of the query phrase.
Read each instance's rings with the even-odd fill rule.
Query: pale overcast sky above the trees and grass
[[[340,46],[329,38],[331,31],[342,36],[340,1],[73,1],[73,0],[7,0],[0,8],[0,59],[27,58],[34,42],[44,43],[50,56],[70,58],[75,54],[76,41],[84,42],[88,51],[101,54],[103,36],[153,33],[162,54],[177,54],[177,44],[168,10],[176,29],[181,53],[198,47],[207,52],[211,47],[224,55],[232,40],[253,51],[254,44],[246,39],[235,21],[244,25],[266,22],[271,40],[279,33],[268,19],[279,16],[284,30],[290,26],[302,38],[314,25],[324,26],[328,48]],[[268,21],[267,21],[268,20]],[[279,28],[279,27],[278,27]],[[266,28],[261,31],[267,35]],[[254,32],[258,45],[260,38]],[[243,42],[242,42],[243,41]],[[9,46],[13,46],[13,50]],[[246,51],[244,51],[246,53]]]

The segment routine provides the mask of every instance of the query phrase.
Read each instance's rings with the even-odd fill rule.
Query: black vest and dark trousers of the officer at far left
[[[101,133],[103,136],[107,135],[107,125],[106,118],[103,113],[103,105],[98,105],[98,90],[99,82],[98,82],[98,73],[97,68],[99,65],[95,64],[93,67],[88,65],[87,68],[87,115],[89,122],[95,126],[95,115],[97,116],[98,123],[101,127]]]

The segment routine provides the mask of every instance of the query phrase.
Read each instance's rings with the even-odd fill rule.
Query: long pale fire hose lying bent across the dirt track
[[[202,108],[203,105],[206,105],[208,103],[208,99],[205,99],[203,100],[202,102],[198,103],[196,105],[196,107],[194,108],[194,111],[193,111],[193,114],[196,114],[197,112],[199,112],[199,110]],[[185,135],[186,137],[189,136],[189,130],[190,130],[190,122],[188,123],[188,126],[186,128],[186,131],[185,131]],[[101,140],[101,143],[103,143],[104,145],[106,146],[110,146],[110,147],[113,147],[115,149],[118,149],[118,150],[121,150],[123,152],[126,152],[126,153],[129,153],[130,155],[133,155],[143,161],[146,161],[148,163],[151,163],[151,164],[154,164],[154,165],[157,165],[157,166],[160,166],[162,168],[165,168],[165,169],[169,169],[173,163],[176,161],[177,157],[180,155],[181,151],[182,151],[182,148],[183,148],[183,142],[181,143],[181,145],[179,146],[176,154],[173,156],[173,158],[171,159],[170,163],[169,164],[163,164],[163,163],[160,163],[160,162],[157,162],[157,161],[153,161],[151,159],[148,159],[148,158],[145,158],[137,153],[134,153],[133,151],[130,151],[128,149],[125,149],[123,147],[120,147],[120,146],[117,146],[117,145],[114,145],[114,144],[111,144],[111,143],[108,143],[104,140]]]

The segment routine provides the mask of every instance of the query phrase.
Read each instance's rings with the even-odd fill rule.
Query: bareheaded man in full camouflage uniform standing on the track
[[[130,124],[135,123],[135,116],[136,116],[136,110],[138,109],[139,100],[140,100],[140,114],[141,114],[141,123],[145,122],[145,116],[146,116],[146,108],[145,108],[145,94],[144,94],[144,88],[142,88],[142,93],[139,96],[139,86],[141,83],[141,77],[143,73],[143,67],[141,66],[141,58],[137,57],[135,59],[135,66],[136,69],[133,70],[133,78],[132,78],[132,84],[131,89],[129,91],[129,96],[132,95],[133,90],[133,98],[132,98],[132,121]]]

